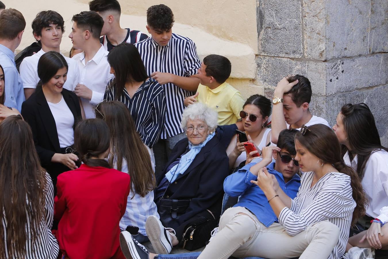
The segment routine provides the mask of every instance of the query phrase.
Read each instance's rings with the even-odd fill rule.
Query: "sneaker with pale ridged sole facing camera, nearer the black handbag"
[[[170,233],[165,228],[156,216],[149,216],[145,221],[145,232],[147,233],[149,241],[155,250],[155,254],[170,254],[172,249],[172,236],[175,235],[175,230]]]

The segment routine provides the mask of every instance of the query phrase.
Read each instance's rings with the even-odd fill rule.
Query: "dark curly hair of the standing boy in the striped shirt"
[[[170,7],[152,5],[147,10],[147,24],[154,30],[168,31],[174,24],[174,15]]]

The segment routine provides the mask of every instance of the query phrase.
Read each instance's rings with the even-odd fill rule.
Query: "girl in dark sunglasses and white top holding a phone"
[[[271,101],[259,94],[249,97],[240,111],[244,132],[260,149],[259,154],[263,147],[271,143],[271,129],[266,127],[270,114]],[[247,158],[244,143],[240,142],[237,135],[230,141],[226,152],[229,157],[229,169],[236,168]]]

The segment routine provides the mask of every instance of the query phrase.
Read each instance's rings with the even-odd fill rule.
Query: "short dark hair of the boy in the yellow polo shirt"
[[[206,56],[203,59],[203,64],[206,66],[206,76],[213,76],[217,83],[225,82],[232,70],[229,59],[216,54]]]

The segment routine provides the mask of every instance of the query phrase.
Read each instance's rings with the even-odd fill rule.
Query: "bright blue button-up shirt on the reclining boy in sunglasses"
[[[256,184],[251,183],[251,180],[257,180],[257,176],[253,175],[249,170],[255,164],[255,162],[249,163],[234,174],[226,177],[223,182],[223,189],[225,193],[232,197],[241,196],[239,202],[233,207],[247,208],[268,228],[272,223],[278,222],[278,219],[262,189]],[[298,174],[295,174],[285,183],[283,175],[276,171],[274,167],[275,163],[270,163],[267,166],[268,172],[276,177],[279,187],[282,188],[284,193],[291,199],[295,198],[300,187],[300,177]]]

